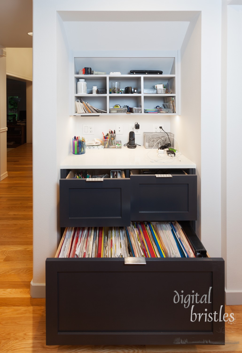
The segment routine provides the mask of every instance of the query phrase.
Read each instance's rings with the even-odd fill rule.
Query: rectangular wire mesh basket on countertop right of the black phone
[[[168,135],[168,136],[167,136]],[[168,144],[170,144],[168,146]],[[166,146],[174,148],[174,134],[171,132],[144,132],[144,147],[159,148]]]

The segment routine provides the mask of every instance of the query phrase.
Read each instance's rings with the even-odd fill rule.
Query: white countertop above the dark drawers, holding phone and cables
[[[135,149],[131,149],[122,146],[121,149],[86,150],[86,153],[82,155],[70,153],[61,163],[60,168],[196,168],[196,164],[183,155],[174,159],[166,158],[163,159],[165,163],[159,163],[152,162],[147,153],[150,158],[161,160],[161,157],[157,157],[157,149],[155,148],[151,150],[144,148],[144,146],[137,146]],[[166,151],[164,151],[163,156],[166,155]]]

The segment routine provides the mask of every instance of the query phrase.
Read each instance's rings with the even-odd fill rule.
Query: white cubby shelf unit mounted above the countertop
[[[168,53],[170,54],[170,52]],[[179,113],[179,92],[178,92],[178,52],[173,52],[174,56],[159,58],[87,58],[75,57],[73,53],[72,65],[72,93],[70,95],[70,115],[114,115],[109,112],[119,104],[121,107],[129,106],[141,108],[141,113],[131,113],[137,115],[147,115],[145,109],[153,109],[156,106],[162,108],[171,107],[172,100],[176,107],[176,112],[162,113],[164,115],[178,115]],[[104,71],[107,74],[79,74],[83,67],[91,67],[92,70]],[[130,74],[130,70],[161,70],[163,74]],[[121,75],[110,75],[110,72],[120,71]],[[87,83],[87,93],[77,94],[77,82],[85,79]],[[112,94],[111,83],[120,82],[122,94]],[[147,93],[154,89],[154,85],[164,84],[168,86],[169,93]],[[106,90],[104,94],[93,94],[93,86]],[[124,94],[125,87],[137,88],[137,93]],[[106,113],[76,113],[75,102],[83,100],[91,106],[105,110]],[[166,105],[168,104],[168,105]],[[116,113],[126,115],[126,113]],[[115,114],[115,115],[116,115]],[[161,113],[157,113],[161,114]]]

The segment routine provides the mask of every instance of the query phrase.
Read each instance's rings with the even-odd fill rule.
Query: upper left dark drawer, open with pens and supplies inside
[[[123,170],[72,170],[60,179],[60,226],[130,224],[130,179]]]

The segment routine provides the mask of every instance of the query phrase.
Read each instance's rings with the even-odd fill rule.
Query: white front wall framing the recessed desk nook
[[[57,95],[57,65],[65,67],[66,54],[63,64],[56,62],[56,10],[57,11],[120,11],[129,9],[139,11],[173,11],[177,15],[181,11],[201,11],[201,238],[207,245],[212,256],[221,254],[221,191],[220,191],[220,70],[221,70],[221,1],[215,0],[153,0],[149,2],[97,1],[91,3],[77,0],[37,1],[33,0],[33,281],[32,295],[41,295],[38,284],[43,285],[44,261],[53,256],[56,247],[56,200],[57,200],[57,160],[66,157],[66,147],[61,154],[57,153],[57,124],[58,114],[56,104],[62,104]],[[186,12],[187,11],[187,12]],[[83,12],[82,12],[83,13]],[[165,13],[164,13],[165,16]],[[45,26],[43,26],[43,18]],[[161,17],[162,19],[164,17]],[[179,20],[179,19],[178,19]],[[181,20],[181,19],[180,19]],[[186,19],[187,20],[187,19]],[[58,31],[57,31],[58,32]],[[73,33],[73,36],[88,36]],[[149,38],[142,34],[144,43]],[[48,40],[46,40],[48,38]],[[162,38],[159,36],[159,38]],[[108,40],[108,35],[107,35]],[[172,40],[172,39],[171,39]],[[129,41],[129,38],[124,38]],[[162,41],[161,41],[162,45]],[[63,49],[66,44],[62,45]],[[45,50],[43,50],[43,48]],[[48,53],[48,55],[46,55]],[[216,63],[211,65],[212,62]],[[61,59],[60,59],[61,60]],[[63,72],[57,72],[58,75]],[[65,79],[64,79],[65,82]],[[208,100],[209,82],[216,83],[213,89],[213,99]],[[189,92],[187,92],[189,95]],[[41,108],[40,108],[41,106]],[[212,117],[212,119],[211,119]],[[63,119],[63,118],[61,118]],[[66,116],[67,121],[70,119]],[[67,129],[70,131],[67,122]],[[132,123],[132,122],[131,122]],[[61,123],[62,124],[62,123]],[[104,121],[108,128],[110,121]],[[48,129],[47,129],[48,128]],[[216,131],[218,132],[216,134]],[[64,135],[66,131],[63,131]],[[199,134],[199,131],[197,132]],[[207,157],[207,146],[211,141],[218,149],[218,160]],[[41,147],[40,147],[41,146]],[[58,166],[57,166],[58,167]],[[213,177],[211,177],[211,171]],[[211,195],[213,202],[211,202]],[[214,239],[214,240],[213,240]],[[36,287],[36,292],[33,290]],[[34,293],[35,292],[35,293]]]

